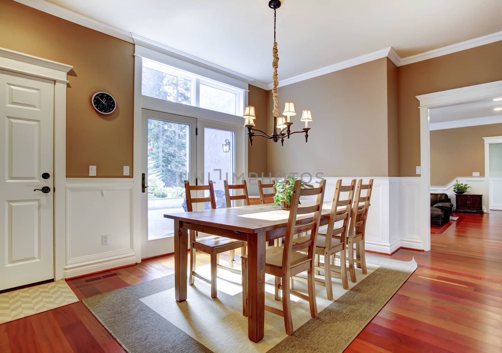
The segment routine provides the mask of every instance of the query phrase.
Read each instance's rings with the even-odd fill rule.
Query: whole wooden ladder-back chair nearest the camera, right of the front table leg
[[[301,180],[295,181],[293,185],[293,197],[289,210],[288,224],[286,227],[286,243],[284,247],[273,247],[266,250],[265,273],[276,276],[275,296],[279,300],[279,290],[282,291],[283,310],[265,305],[265,310],[284,317],[284,325],[287,334],[293,334],[293,319],[291,316],[291,299],[293,294],[304,299],[310,304],[310,315],[317,317],[317,304],[314,281],[314,255],[317,231],[322,212],[322,201],[326,180],[322,180],[317,188],[301,189]],[[315,204],[310,206],[299,206],[300,196],[317,195]],[[314,213],[311,222],[297,223],[297,216],[307,213]],[[310,230],[310,235],[297,238],[293,243],[293,235]],[[302,252],[300,252],[302,251]],[[242,314],[247,316],[247,256],[242,259]],[[290,288],[290,278],[303,271],[307,271],[308,295],[300,293]]]

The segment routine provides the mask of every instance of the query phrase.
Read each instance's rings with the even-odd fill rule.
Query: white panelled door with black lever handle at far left
[[[0,70],[0,117],[4,290],[54,278],[54,81]]]

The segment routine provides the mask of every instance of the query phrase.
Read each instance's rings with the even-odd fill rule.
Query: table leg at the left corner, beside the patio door
[[[179,302],[187,299],[188,230],[174,220],[174,292]]]

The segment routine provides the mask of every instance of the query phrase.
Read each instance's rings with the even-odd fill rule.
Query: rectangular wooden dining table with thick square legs
[[[302,202],[302,206],[309,203],[312,202]],[[328,224],[330,210],[331,202],[325,202],[320,225]],[[187,299],[189,230],[247,242],[247,335],[254,342],[260,341],[265,321],[265,250],[267,242],[286,235],[289,211],[272,204],[260,204],[170,213],[164,217],[174,220],[175,297],[178,302]],[[313,213],[299,215],[297,225],[312,220]]]

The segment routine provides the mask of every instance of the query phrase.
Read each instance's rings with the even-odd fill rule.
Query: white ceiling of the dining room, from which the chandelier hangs
[[[268,0],[49,0],[256,80],[272,82]],[[502,31],[501,0],[284,0],[279,81],[393,47],[401,57]]]

